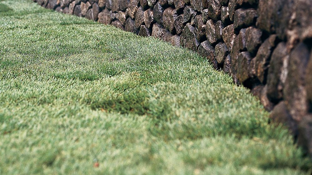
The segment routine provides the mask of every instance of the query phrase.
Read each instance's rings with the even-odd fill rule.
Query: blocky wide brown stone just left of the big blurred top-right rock
[[[240,8],[234,13],[234,30],[249,27],[256,23],[257,11],[254,9]]]

